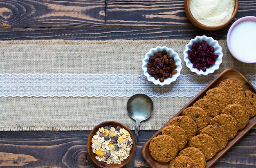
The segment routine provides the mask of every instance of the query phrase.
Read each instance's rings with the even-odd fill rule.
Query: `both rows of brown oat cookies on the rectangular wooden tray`
[[[171,165],[177,167],[178,164],[192,165],[191,167],[195,165],[196,168],[202,168],[205,164],[197,164],[198,160],[193,159],[195,156],[192,154],[197,152],[192,152],[186,157],[181,157],[180,154],[184,153],[187,148],[196,148],[203,153],[206,161],[211,159],[217,152],[225,148],[228,140],[234,138],[236,132],[243,129],[249,118],[256,114],[255,105],[254,93],[249,90],[244,91],[241,83],[233,79],[221,81],[218,87],[208,90],[202,99],[196,101],[193,106],[186,108],[181,116],[171,119],[169,125],[161,130],[162,135],[153,138],[154,141],[157,139],[157,141],[161,141],[162,137],[172,138],[175,150],[166,150],[165,153],[162,152],[162,155],[159,155],[161,150],[159,150],[160,146],[158,145],[158,150],[151,147],[150,155],[157,156],[157,158],[152,157],[160,162],[171,160],[170,168],[174,167]],[[188,147],[184,148],[187,142]],[[170,144],[165,143],[165,145],[166,149],[170,148],[168,146]],[[158,154],[153,154],[154,150]],[[181,151],[177,155],[179,150]],[[173,156],[166,157],[166,153],[172,153]],[[159,160],[159,158],[164,157],[165,159]],[[202,157],[196,158],[202,159]]]

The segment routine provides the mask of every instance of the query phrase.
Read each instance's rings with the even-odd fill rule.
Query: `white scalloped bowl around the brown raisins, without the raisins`
[[[160,82],[159,79],[155,79],[154,76],[151,76],[148,74],[148,68],[147,68],[147,63],[149,62],[149,58],[154,55],[155,52],[163,51],[166,50],[168,56],[173,56],[175,60],[175,64],[177,65],[177,74],[174,74],[171,78],[166,78],[164,82]],[[177,80],[177,77],[180,76],[180,71],[182,69],[181,66],[181,59],[179,58],[179,54],[173,51],[173,49],[168,48],[166,46],[160,47],[157,46],[155,48],[152,48],[149,50],[148,53],[146,53],[145,58],[142,60],[142,69],[144,71],[144,75],[148,78],[148,81],[153,82],[155,85],[169,85],[170,83],[174,82]]]

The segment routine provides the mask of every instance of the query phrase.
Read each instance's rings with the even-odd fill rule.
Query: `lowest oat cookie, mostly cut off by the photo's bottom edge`
[[[181,155],[170,162],[169,168],[195,168],[195,163],[190,157]]]

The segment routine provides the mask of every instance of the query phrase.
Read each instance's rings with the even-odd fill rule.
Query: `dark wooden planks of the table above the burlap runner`
[[[231,24],[202,31],[191,25],[183,7],[183,0],[0,0],[0,27],[7,27],[0,29],[0,40],[226,38]],[[243,16],[256,16],[255,0],[239,0],[234,21]]]

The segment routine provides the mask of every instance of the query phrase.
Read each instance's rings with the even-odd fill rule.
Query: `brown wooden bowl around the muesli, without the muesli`
[[[96,134],[96,132],[99,130],[99,128],[104,127],[104,126],[109,126],[112,125],[114,128],[117,128],[117,126],[120,126],[121,128],[126,129],[129,133],[130,133],[130,137],[132,138],[132,148],[130,150],[130,156],[128,156],[127,159],[125,159],[124,161],[121,162],[121,164],[117,164],[117,165],[113,165],[113,164],[107,164],[103,161],[98,161],[95,157],[96,154],[94,154],[92,152],[92,137]],[[130,159],[132,158],[132,155],[135,152],[135,140],[134,137],[132,135],[132,132],[126,127],[126,125],[119,123],[117,121],[105,121],[103,123],[100,123],[99,125],[97,125],[89,134],[89,137],[87,139],[87,152],[90,156],[90,158],[92,159],[92,161],[94,162],[94,164],[96,164],[97,166],[101,167],[101,168],[121,168],[123,166],[125,166]]]

